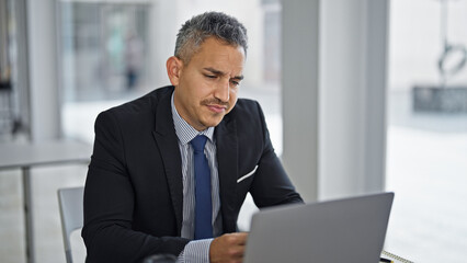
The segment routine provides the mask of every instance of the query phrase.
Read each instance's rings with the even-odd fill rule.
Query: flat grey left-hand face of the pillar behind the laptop
[[[282,3],[282,159],[305,201],[318,197],[319,7],[319,0]]]

